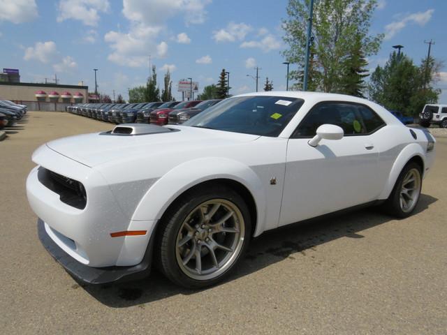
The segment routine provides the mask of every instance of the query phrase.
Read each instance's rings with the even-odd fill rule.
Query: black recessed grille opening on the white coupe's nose
[[[85,192],[84,185],[80,181],[65,177],[42,167],[38,170],[38,179],[43,186],[59,194],[59,199],[64,204],[78,209],[85,209],[87,193]]]

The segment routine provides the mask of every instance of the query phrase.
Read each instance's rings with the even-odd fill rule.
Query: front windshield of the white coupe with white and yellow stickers
[[[304,101],[280,96],[239,96],[207,108],[183,125],[277,137]]]

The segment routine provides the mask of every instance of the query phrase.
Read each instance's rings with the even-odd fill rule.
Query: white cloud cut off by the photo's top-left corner
[[[36,0],[0,0],[0,21],[18,24],[38,17]]]

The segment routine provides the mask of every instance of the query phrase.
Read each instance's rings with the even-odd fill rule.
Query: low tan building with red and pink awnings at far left
[[[89,95],[89,87],[83,84],[35,84],[20,82],[17,69],[3,68],[0,80],[0,98],[27,105],[28,110],[64,111],[68,105],[94,103],[97,96]]]

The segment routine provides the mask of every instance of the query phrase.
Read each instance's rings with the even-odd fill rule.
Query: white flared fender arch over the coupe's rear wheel
[[[390,171],[386,184],[379,195],[379,199],[388,199],[391,191],[393,191],[400,172],[402,172],[405,165],[414,157],[419,157],[420,160],[425,163],[425,152],[423,147],[421,147],[418,143],[408,144],[404,149],[402,149],[402,151],[400,151],[400,154],[397,156],[393,164],[393,168]],[[421,166],[421,169],[423,174],[422,177],[424,177],[424,166]]]

